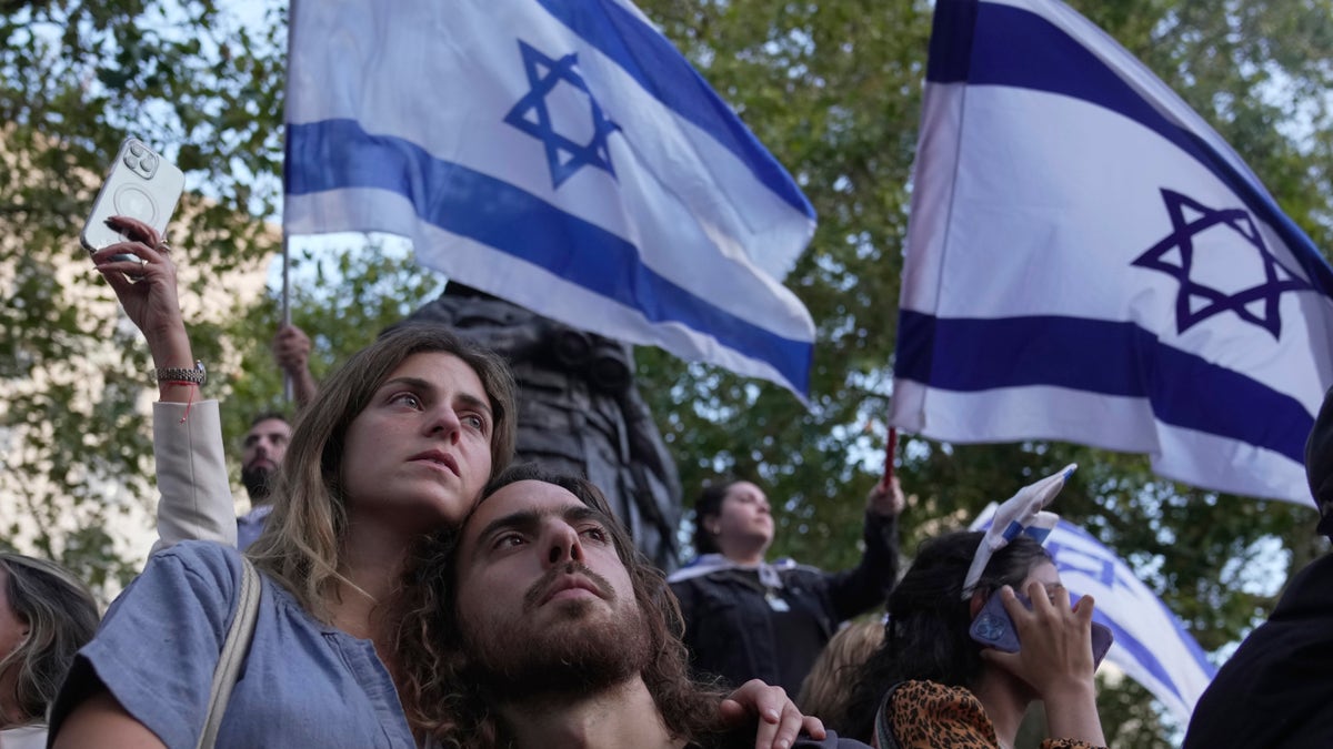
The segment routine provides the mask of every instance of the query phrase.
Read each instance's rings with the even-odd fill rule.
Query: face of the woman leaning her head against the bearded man
[[[352,420],[343,445],[348,517],[400,533],[459,524],[491,478],[491,398],[444,352],[415,353]]]

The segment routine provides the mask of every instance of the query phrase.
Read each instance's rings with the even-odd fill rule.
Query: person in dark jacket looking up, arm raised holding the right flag
[[[773,516],[762,489],[738,480],[705,486],[694,502],[700,557],[669,578],[693,668],[729,685],[761,678],[798,693],[838,625],[884,605],[897,576],[902,505],[897,478],[876,484],[866,500],[861,564],[821,572],[764,560]]]

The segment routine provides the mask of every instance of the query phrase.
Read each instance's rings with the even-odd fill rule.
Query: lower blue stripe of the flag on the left
[[[289,123],[287,171],[288,195],[345,188],[399,193],[428,224],[532,263],[652,323],[706,331],[769,363],[798,392],[809,390],[809,341],[774,335],[689,293],[643,265],[629,241],[509,183],[435,159],[411,141],[372,136],[353,120]]]

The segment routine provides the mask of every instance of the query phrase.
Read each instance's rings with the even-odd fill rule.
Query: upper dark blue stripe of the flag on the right
[[[941,0],[926,79],[1045,91],[1137,121],[1193,156],[1234,191],[1282,237],[1314,285],[1333,296],[1333,268],[1266,192],[1237,172],[1208,141],[1164,117],[1086,47],[1046,19],[1010,5]]]

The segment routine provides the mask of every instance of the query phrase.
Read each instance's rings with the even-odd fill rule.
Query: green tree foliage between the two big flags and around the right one
[[[1072,4],[1208,119],[1318,247],[1333,245],[1326,0]],[[849,565],[865,492],[884,462],[930,7],[641,5],[797,175],[820,215],[786,280],[818,325],[809,410],[772,385],[645,349],[637,353],[643,392],[676,450],[686,504],[716,472],[757,478],[778,521],[774,554]],[[914,496],[902,518],[908,554],[921,538],[965,525],[986,502],[1078,462],[1058,512],[1128,558],[1209,649],[1253,626],[1285,574],[1326,545],[1312,542],[1312,509],[1174,485],[1142,456],[1046,442],[942,445],[916,436],[900,436],[898,456],[898,474]],[[1172,741],[1133,685],[1108,685],[1102,709],[1117,745]]]

